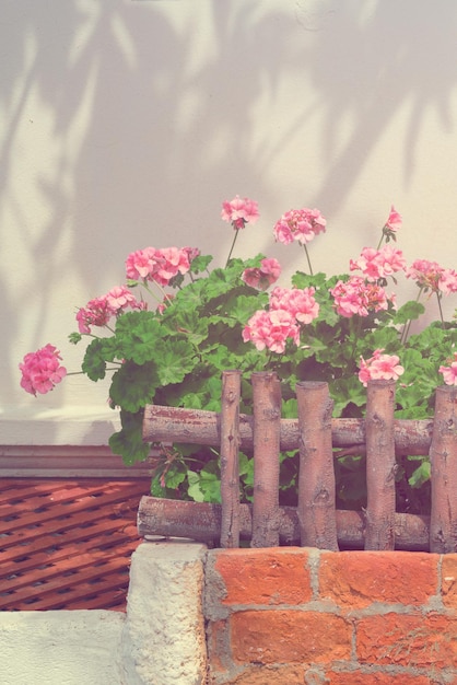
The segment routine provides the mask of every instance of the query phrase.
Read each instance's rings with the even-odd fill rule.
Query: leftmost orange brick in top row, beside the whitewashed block
[[[214,569],[227,591],[223,604],[296,605],[313,596],[304,549],[226,549],[215,555]]]

